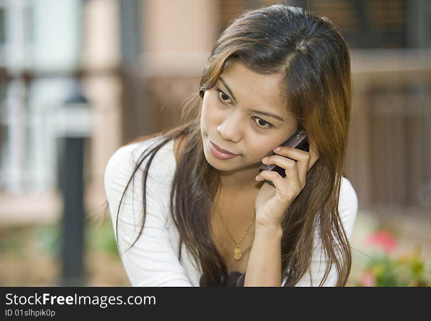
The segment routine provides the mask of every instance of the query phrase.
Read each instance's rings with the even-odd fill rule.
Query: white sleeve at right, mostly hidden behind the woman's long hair
[[[342,177],[340,197],[338,203],[341,222],[346,231],[347,238],[351,239],[353,228],[355,226],[356,214],[358,212],[358,196],[348,179]],[[318,286],[325,275],[326,258],[318,230],[314,234],[314,249],[311,258],[310,269],[302,276],[295,286],[311,286],[310,272],[312,276],[312,286]],[[337,282],[337,271],[335,264],[322,286],[335,286]]]

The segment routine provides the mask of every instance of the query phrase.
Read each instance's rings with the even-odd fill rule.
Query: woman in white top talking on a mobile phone
[[[358,207],[344,177],[351,86],[327,18],[282,4],[242,12],[213,47],[191,120],[108,161],[132,285],[344,286]],[[297,128],[310,150],[277,151]]]

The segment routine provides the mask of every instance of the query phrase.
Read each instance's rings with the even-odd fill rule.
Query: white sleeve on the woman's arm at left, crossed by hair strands
[[[133,172],[135,157],[133,146],[121,147],[109,159],[104,173],[104,187],[111,212],[114,234],[117,237],[116,221],[118,206],[125,186]],[[162,152],[159,150],[157,153]],[[161,193],[167,191],[164,187],[163,175],[154,166],[163,165],[163,157],[154,157],[146,182],[146,216],[141,236],[133,245],[142,225],[143,170],[147,157],[135,174],[135,181],[124,194],[118,217],[118,248],[124,269],[132,286],[192,286],[184,268],[178,261],[168,235],[166,222],[168,211],[161,203]],[[166,182],[165,182],[166,183]]]

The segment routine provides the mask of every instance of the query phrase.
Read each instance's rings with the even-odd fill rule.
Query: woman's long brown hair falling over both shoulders
[[[185,140],[170,192],[170,211],[184,242],[203,273],[203,284],[222,286],[226,265],[210,237],[209,213],[219,183],[219,171],[208,166],[203,152],[200,114],[204,92],[211,89],[230,59],[261,73],[282,73],[287,106],[315,146],[319,160],[307,174],[306,185],[287,209],[283,220],[282,278],[294,286],[311,265],[314,231],[319,229],[327,262],[319,286],[335,264],[337,286],[344,286],[351,269],[350,244],[338,212],[341,179],[352,105],[350,54],[342,35],[326,17],[299,7],[275,4],[243,10],[221,33],[202,73],[199,91],[185,103],[182,125],[137,138],[160,136],[161,142],[144,151],[122,194],[146,157],[143,213],[148,168],[168,141]],[[189,160],[194,160],[190,162]],[[144,229],[145,215],[135,242]],[[118,233],[117,233],[118,244]],[[181,249],[181,246],[180,246]],[[181,253],[180,253],[181,254]]]

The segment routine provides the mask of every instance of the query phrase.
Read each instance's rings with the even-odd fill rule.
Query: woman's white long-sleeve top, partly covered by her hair
[[[120,147],[108,160],[104,187],[117,237],[116,220],[120,199],[141,153],[160,136]],[[124,269],[132,286],[199,286],[202,271],[182,242],[178,260],[180,235],[169,210],[170,188],[176,168],[173,140],[165,144],[151,162],[146,182],[146,216],[144,229],[135,245],[142,225],[142,177],[149,157],[141,164],[121,202],[118,218],[118,247]],[[352,184],[342,177],[338,210],[347,236],[353,232],[358,210],[358,198]],[[193,264],[194,263],[194,264]],[[309,272],[295,286],[317,286],[326,268],[325,255],[316,229]],[[337,274],[332,266],[324,286],[335,286]],[[282,285],[286,283],[284,278]]]

